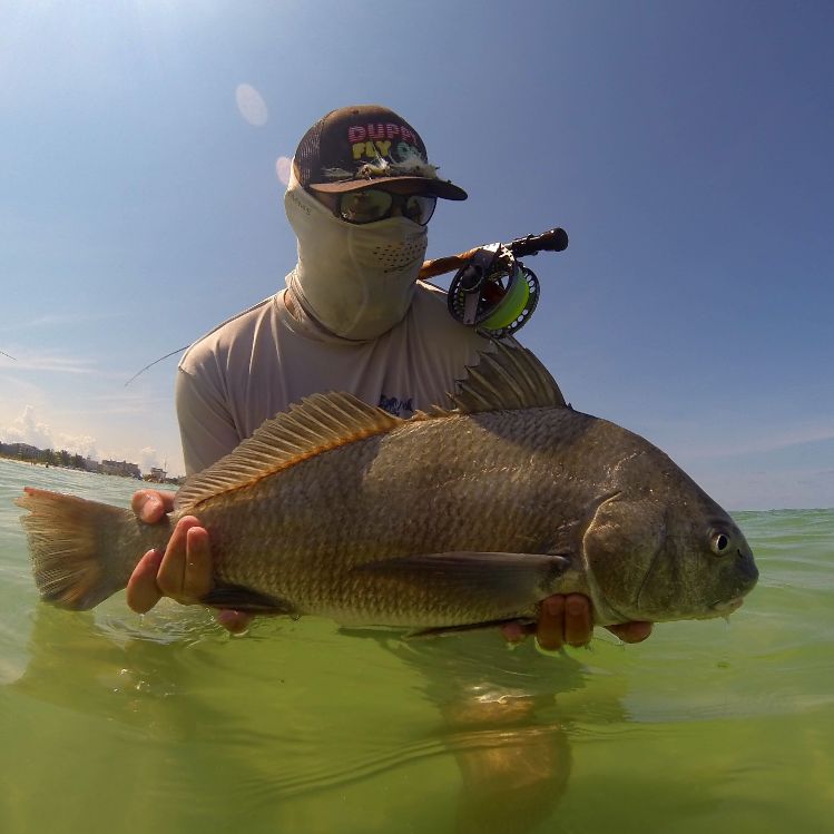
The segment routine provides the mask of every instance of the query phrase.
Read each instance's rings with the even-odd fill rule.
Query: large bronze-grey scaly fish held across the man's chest
[[[568,404],[496,343],[451,402],[394,416],[314,394],[189,478],[158,524],[24,488],[41,598],[87,610],[177,520],[208,530],[207,606],[411,634],[534,621],[582,593],[598,625],[726,617],[758,578],[725,510],[638,434]]]

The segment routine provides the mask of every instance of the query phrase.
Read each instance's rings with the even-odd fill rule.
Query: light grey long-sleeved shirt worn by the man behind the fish
[[[449,315],[444,292],[423,283],[402,322],[369,342],[326,333],[287,305],[286,292],[224,322],[183,356],[176,402],[188,474],[313,393],[345,391],[403,418],[448,405],[455,380],[489,347]]]

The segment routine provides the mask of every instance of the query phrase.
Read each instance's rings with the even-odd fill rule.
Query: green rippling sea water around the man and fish
[[[315,834],[834,831],[834,510],[736,514],[762,579],[728,625],[601,631],[562,657],[315,618],[230,637],[124,596],[38,602],[0,460],[0,831]]]

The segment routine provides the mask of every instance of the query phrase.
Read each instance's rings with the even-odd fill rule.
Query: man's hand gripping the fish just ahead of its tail
[[[131,507],[146,524],[155,524],[174,509],[174,493],[139,490]],[[212,590],[212,549],[208,531],[194,516],[185,516],[174,528],[165,552],[148,550],[127,583],[127,604],[137,614],[149,611],[163,597],[180,605],[196,605]],[[243,631],[251,616],[222,610],[217,621],[229,631]]]

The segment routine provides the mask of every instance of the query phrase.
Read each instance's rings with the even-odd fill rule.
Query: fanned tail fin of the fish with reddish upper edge
[[[30,511],[21,521],[45,601],[85,611],[126,586],[133,566],[120,538],[126,522],[136,527],[130,510],[32,487],[24,492],[14,503]]]

